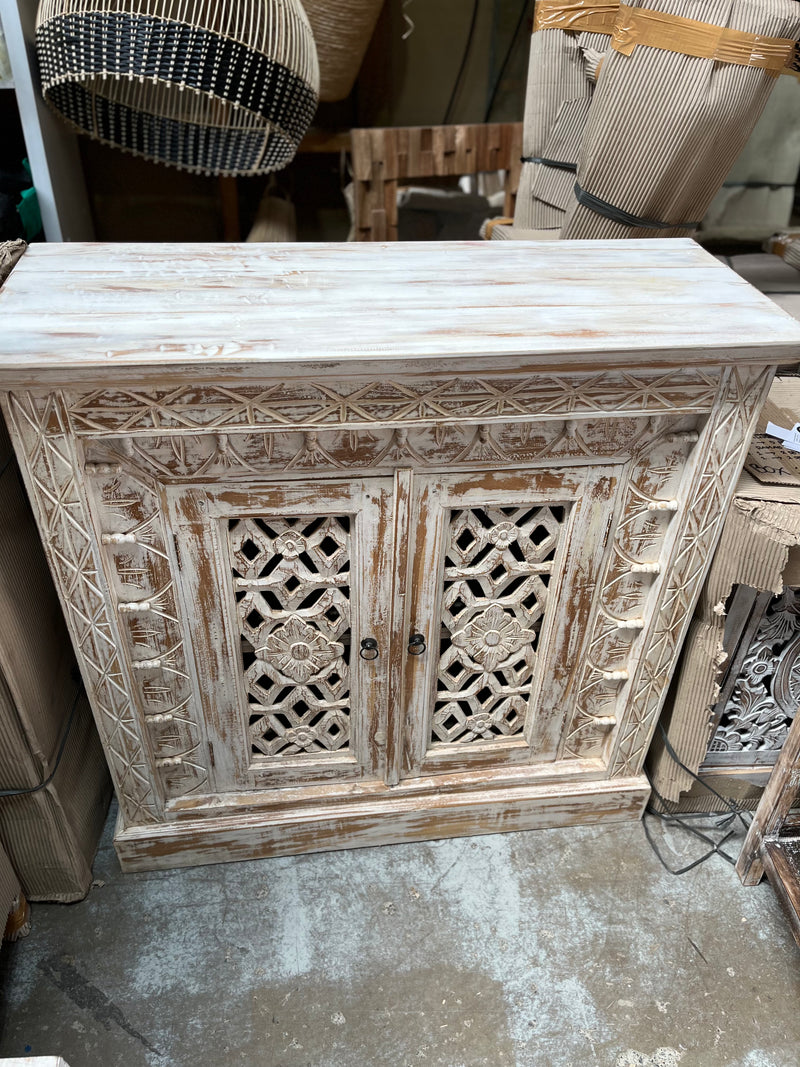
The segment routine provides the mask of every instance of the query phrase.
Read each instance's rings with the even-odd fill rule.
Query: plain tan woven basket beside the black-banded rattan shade
[[[343,100],[353,87],[383,0],[303,0],[317,42],[320,99]]]

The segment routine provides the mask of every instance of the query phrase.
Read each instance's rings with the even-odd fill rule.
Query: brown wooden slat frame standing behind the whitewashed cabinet
[[[356,241],[397,240],[397,190],[415,178],[506,171],[505,214],[513,216],[522,166],[522,123],[398,126],[351,132]]]

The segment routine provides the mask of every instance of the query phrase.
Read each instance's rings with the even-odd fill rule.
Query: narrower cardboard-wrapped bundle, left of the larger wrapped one
[[[619,0],[537,0],[514,227],[558,236],[618,7]]]

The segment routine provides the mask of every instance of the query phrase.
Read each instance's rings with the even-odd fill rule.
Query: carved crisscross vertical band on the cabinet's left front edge
[[[155,822],[160,806],[149,755],[121,663],[63,400],[10,395],[6,412],[124,817]]]

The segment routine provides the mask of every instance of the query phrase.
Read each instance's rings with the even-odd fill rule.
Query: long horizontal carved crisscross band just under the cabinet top
[[[592,375],[431,376],[398,381],[288,380],[271,385],[103,388],[76,396],[76,434],[435,426],[708,411],[717,377],[694,368]]]

